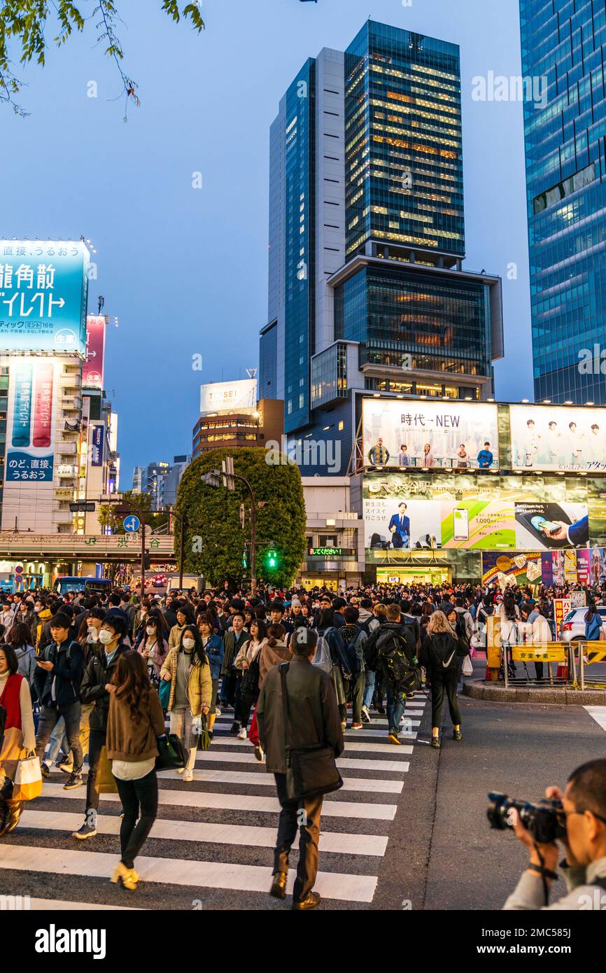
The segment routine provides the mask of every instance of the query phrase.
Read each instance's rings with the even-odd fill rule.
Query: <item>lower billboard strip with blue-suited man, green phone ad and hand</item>
[[[588,546],[587,497],[521,477],[366,478],[367,549],[559,551]]]

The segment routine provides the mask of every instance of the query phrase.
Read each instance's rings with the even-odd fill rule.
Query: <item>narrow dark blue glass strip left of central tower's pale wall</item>
[[[284,429],[309,420],[309,359],[314,352],[315,61],[286,92],[284,143]]]

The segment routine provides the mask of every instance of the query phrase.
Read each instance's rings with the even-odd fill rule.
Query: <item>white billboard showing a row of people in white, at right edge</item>
[[[514,469],[606,470],[606,409],[510,406],[510,423]]]

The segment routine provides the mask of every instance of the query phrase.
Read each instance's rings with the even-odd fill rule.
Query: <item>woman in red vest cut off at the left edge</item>
[[[15,649],[0,645],[0,705],[7,711],[0,747],[0,838],[18,825],[21,802],[12,800],[13,780],[18,761],[36,748],[29,685],[17,670]]]

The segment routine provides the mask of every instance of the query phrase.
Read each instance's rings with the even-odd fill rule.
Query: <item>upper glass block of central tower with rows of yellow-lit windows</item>
[[[347,255],[368,239],[465,254],[455,44],[368,20],[345,54]]]

